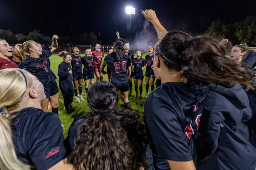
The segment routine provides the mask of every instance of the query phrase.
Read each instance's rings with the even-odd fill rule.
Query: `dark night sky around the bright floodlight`
[[[140,2],[139,2],[140,1]],[[133,6],[132,39],[145,27],[153,30],[140,14],[140,9],[153,9],[166,29],[179,29],[193,34],[203,33],[213,20],[226,23],[256,15],[256,0],[0,0],[0,28],[28,34],[39,29],[43,35],[79,35],[94,32],[101,44],[112,44],[116,31],[129,39],[130,16],[125,7]],[[144,25],[146,24],[146,25]],[[147,29],[147,28],[146,28]],[[153,36],[154,32],[152,33]]]

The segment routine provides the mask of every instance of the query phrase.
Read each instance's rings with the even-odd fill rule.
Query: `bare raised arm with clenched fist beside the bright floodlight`
[[[166,35],[167,31],[158,20],[156,12],[154,12],[152,9],[146,9],[145,11],[140,10],[140,12],[143,14],[146,20],[154,25],[158,38],[162,39],[163,36]]]

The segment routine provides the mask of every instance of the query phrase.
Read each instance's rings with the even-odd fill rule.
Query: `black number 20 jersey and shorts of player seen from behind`
[[[127,92],[129,90],[127,70],[128,67],[131,66],[131,61],[124,53],[122,53],[121,61],[122,64],[116,52],[112,52],[105,57],[103,64],[110,66],[111,84],[116,86],[121,92]]]

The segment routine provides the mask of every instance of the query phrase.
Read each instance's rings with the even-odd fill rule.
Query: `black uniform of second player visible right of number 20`
[[[134,67],[133,78],[143,80],[143,70],[142,67],[145,66],[144,58],[134,58],[132,60],[132,65]]]

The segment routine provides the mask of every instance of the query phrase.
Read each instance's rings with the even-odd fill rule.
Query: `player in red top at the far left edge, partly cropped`
[[[12,57],[12,47],[6,40],[0,38],[0,69],[18,68],[17,64],[10,60]]]

